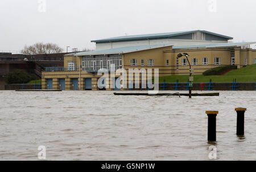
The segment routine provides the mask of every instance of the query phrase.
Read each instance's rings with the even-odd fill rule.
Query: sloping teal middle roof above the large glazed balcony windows
[[[102,55],[102,54],[125,54],[132,53],[135,51],[143,51],[149,49],[163,48],[172,45],[141,45],[141,46],[126,46],[122,48],[108,49],[108,50],[100,50],[100,51],[84,51],[80,53],[76,53],[75,55]],[[74,55],[74,53],[72,53]]]

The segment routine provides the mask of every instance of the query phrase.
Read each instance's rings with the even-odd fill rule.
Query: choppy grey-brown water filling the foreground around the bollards
[[[217,160],[256,160],[256,92],[220,94],[0,91],[0,160],[38,160],[39,145],[47,160],[209,160],[205,110],[220,112]],[[236,136],[239,106],[247,108],[244,138]]]

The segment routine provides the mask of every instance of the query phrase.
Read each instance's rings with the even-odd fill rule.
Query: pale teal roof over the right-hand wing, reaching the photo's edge
[[[221,48],[221,47],[236,47],[256,42],[234,42],[234,43],[221,43],[221,44],[204,44],[204,45],[187,45],[187,46],[173,46],[172,49],[199,49],[199,48]]]

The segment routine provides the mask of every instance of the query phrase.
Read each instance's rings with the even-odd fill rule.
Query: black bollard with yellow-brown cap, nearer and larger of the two
[[[216,117],[218,111],[206,111],[208,115],[208,141],[216,141]]]

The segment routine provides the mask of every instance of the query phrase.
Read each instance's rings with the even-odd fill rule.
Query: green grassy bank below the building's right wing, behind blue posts
[[[233,70],[222,76],[204,76],[204,75],[193,75],[194,83],[207,83],[210,79],[214,83],[230,83],[233,79],[237,79],[237,82],[256,82],[256,64],[247,67]],[[163,76],[159,78],[159,82],[163,83],[165,80],[168,83],[175,83],[179,79],[180,83],[188,81],[188,75],[180,76]]]

